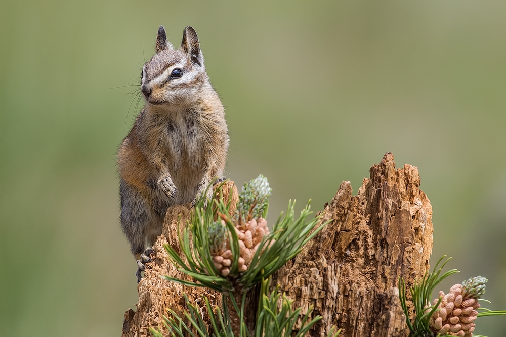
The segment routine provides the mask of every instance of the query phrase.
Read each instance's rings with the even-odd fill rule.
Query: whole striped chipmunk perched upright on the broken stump
[[[141,91],[146,104],[117,155],[121,227],[137,260],[137,282],[152,261],[150,246],[167,208],[194,202],[214,179],[223,180],[229,143],[225,111],[192,27],[176,50],[160,26],[156,54],[142,68]]]

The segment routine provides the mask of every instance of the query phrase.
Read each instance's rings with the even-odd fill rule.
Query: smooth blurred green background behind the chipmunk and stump
[[[270,218],[321,210],[391,151],[419,168],[436,259],[506,309],[506,2],[2,1],[0,335],[118,336],[137,300],[115,153],[158,26],[199,34],[226,106],[228,177]],[[506,318],[475,332],[504,335]]]

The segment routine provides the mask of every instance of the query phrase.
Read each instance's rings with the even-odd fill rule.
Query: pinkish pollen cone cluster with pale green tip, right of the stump
[[[485,292],[487,279],[481,276],[470,278],[462,284],[455,284],[450,292],[439,292],[441,303],[430,320],[431,327],[441,335],[472,336],[474,321],[480,307],[478,299]],[[433,305],[438,303],[435,299]]]

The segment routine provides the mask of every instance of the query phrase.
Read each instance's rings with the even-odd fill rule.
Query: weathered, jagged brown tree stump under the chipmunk
[[[303,308],[299,327],[310,306],[314,307],[310,317],[323,317],[310,330],[311,336],[326,336],[332,326],[343,328],[341,337],[408,334],[398,278],[403,277],[409,287],[429,268],[432,206],[419,189],[418,169],[411,165],[395,169],[393,159],[387,153],[380,164],[373,165],[370,178],[364,179],[356,196],[350,182],[344,181],[325,205],[321,223],[329,223],[273,275],[271,287],[279,285],[280,291],[294,300],[294,307]],[[237,198],[233,182],[226,187],[234,188],[233,198]],[[153,246],[156,259],[139,283],[137,312],[129,309],[125,313],[122,336],[150,335],[149,326],[167,332],[162,315],[166,308],[182,312],[183,292],[192,302],[205,294],[221,305],[220,294],[158,277],[168,274],[190,279],[168,262],[163,249],[164,243],[179,247],[177,228],[189,218],[189,206],[167,210],[163,234]]]

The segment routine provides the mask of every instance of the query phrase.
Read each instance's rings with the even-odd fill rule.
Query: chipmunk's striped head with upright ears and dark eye
[[[167,41],[160,26],[156,37],[156,54],[141,73],[141,91],[150,104],[184,104],[198,98],[198,91],[208,81],[197,33],[186,27],[180,49]]]

